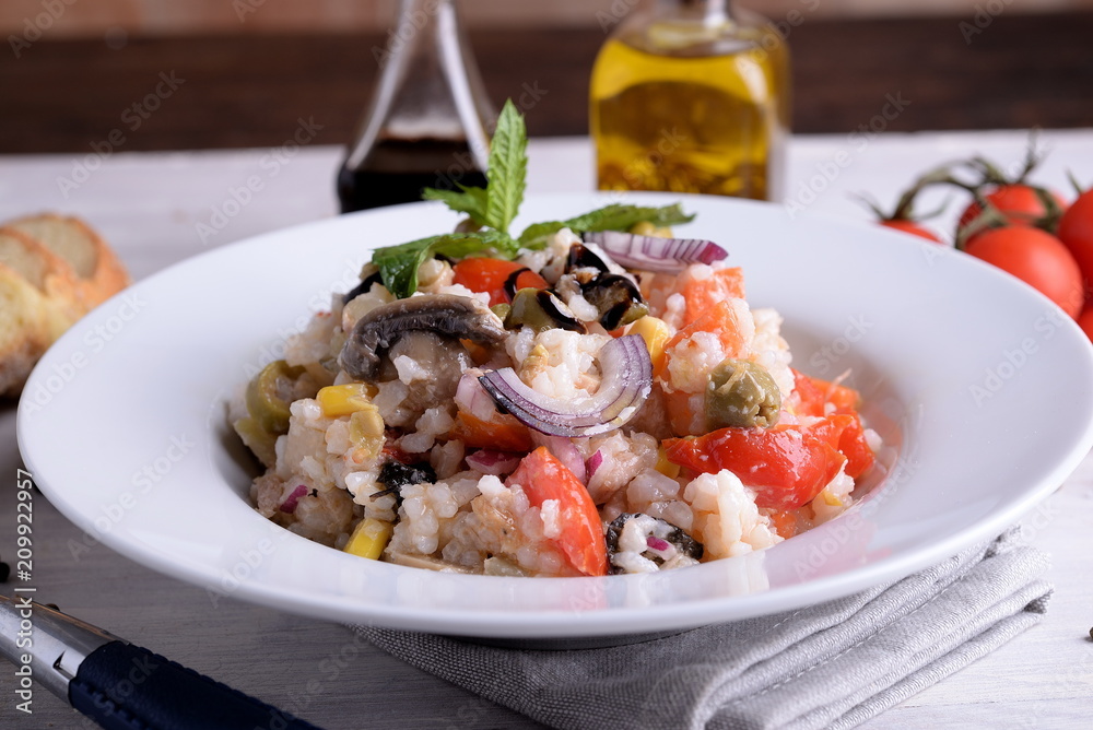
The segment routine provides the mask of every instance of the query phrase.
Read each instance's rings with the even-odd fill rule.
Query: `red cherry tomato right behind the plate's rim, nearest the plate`
[[[974,236],[965,250],[1038,289],[1071,317],[1081,310],[1082,272],[1051,234],[1027,226],[992,228]]]

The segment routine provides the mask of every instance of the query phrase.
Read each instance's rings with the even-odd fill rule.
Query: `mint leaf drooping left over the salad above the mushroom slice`
[[[517,243],[501,231],[445,233],[398,246],[377,248],[372,254],[372,262],[379,267],[379,275],[387,291],[401,299],[418,291],[418,268],[437,254],[461,259],[471,254],[494,252],[501,258],[509,259],[517,250]]]

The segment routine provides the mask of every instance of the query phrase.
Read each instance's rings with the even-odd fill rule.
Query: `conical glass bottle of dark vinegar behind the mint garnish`
[[[484,186],[494,114],[454,0],[401,0],[374,54],[379,85],[338,173],[341,212],[421,200],[423,188]]]

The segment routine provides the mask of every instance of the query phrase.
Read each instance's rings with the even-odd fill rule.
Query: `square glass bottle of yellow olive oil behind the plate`
[[[786,43],[726,0],[657,0],[623,23],[596,60],[590,113],[601,190],[781,196]]]

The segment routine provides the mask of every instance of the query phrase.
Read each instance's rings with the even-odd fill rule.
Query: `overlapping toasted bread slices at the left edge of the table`
[[[0,396],[17,396],[46,349],[128,283],[114,252],[77,219],[0,226]]]

